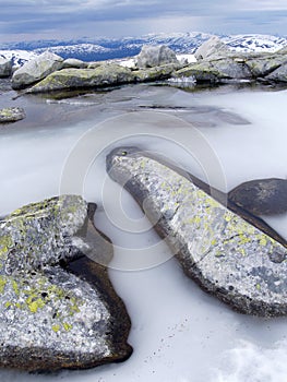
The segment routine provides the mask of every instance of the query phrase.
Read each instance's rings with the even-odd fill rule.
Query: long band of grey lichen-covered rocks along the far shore
[[[63,60],[48,50],[12,73],[9,60],[0,61],[0,76],[11,75],[14,89],[28,93],[115,86],[127,83],[153,82],[166,79],[193,77],[198,83],[228,81],[261,81],[287,83],[287,47],[276,52],[237,52],[218,37],[212,37],[198,48],[196,62],[180,62],[166,46],[143,46],[134,57],[133,67],[117,60],[84,62]]]

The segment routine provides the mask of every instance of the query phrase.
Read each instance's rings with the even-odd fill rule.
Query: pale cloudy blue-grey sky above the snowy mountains
[[[208,32],[287,35],[287,0],[0,0],[0,40]]]

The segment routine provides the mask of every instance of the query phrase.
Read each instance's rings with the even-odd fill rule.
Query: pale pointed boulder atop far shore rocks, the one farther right
[[[196,60],[210,60],[226,57],[230,53],[230,49],[219,37],[213,36],[203,43],[194,52]]]

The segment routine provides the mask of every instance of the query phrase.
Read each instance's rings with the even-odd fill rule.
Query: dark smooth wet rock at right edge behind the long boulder
[[[254,215],[287,212],[287,180],[256,179],[237,186],[228,199]]]

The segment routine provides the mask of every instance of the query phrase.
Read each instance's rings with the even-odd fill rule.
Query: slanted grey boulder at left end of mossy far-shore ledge
[[[34,84],[56,70],[61,69],[62,65],[63,59],[60,56],[45,51],[13,73],[12,87],[19,89]]]

